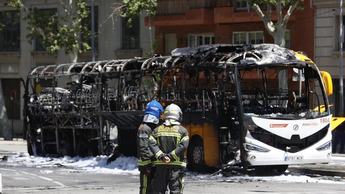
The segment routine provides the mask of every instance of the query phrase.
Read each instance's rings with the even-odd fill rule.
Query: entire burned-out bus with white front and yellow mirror
[[[189,169],[240,161],[285,171],[331,159],[329,94],[327,72],[303,52],[271,44],[37,67],[26,82],[24,137],[30,154],[111,154],[118,145],[135,156],[145,105],[158,100],[183,110]]]

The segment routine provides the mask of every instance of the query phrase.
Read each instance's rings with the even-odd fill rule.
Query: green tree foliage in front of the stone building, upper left
[[[65,13],[59,15],[52,9],[38,9],[27,7],[23,0],[8,0],[7,6],[23,10],[23,20],[28,22],[26,28],[30,30],[27,35],[32,43],[36,38],[42,38],[42,45],[48,52],[54,53],[64,49],[65,54],[71,57],[71,62],[77,62],[78,52],[90,49],[87,41],[91,35],[87,25],[81,21],[89,15],[85,0],[59,0]],[[48,1],[46,0],[47,4]],[[81,33],[86,39],[80,40]],[[80,47],[82,45],[82,47]]]

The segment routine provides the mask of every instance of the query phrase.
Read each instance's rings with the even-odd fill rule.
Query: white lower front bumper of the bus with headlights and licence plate
[[[317,151],[316,149],[331,140],[332,135],[329,131],[325,138],[321,139],[314,145],[296,153],[289,153],[254,139],[248,132],[246,136],[246,143],[265,148],[269,150],[269,152],[263,153],[246,151],[246,161],[249,166],[328,163],[331,161],[332,147],[323,151]],[[301,159],[301,157],[303,157],[303,160],[295,160]]]

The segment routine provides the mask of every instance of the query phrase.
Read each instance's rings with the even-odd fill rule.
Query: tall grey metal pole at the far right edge
[[[343,0],[340,0],[340,14],[339,14],[339,27],[340,27],[340,64],[339,64],[339,115],[344,115],[344,93],[343,93]]]

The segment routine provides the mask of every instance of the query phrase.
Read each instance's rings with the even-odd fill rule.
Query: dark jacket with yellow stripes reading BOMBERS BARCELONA
[[[160,125],[150,136],[149,145],[152,153],[158,159],[156,168],[185,168],[184,155],[189,143],[187,129],[181,125]],[[170,158],[169,163],[161,161],[163,153]]]

